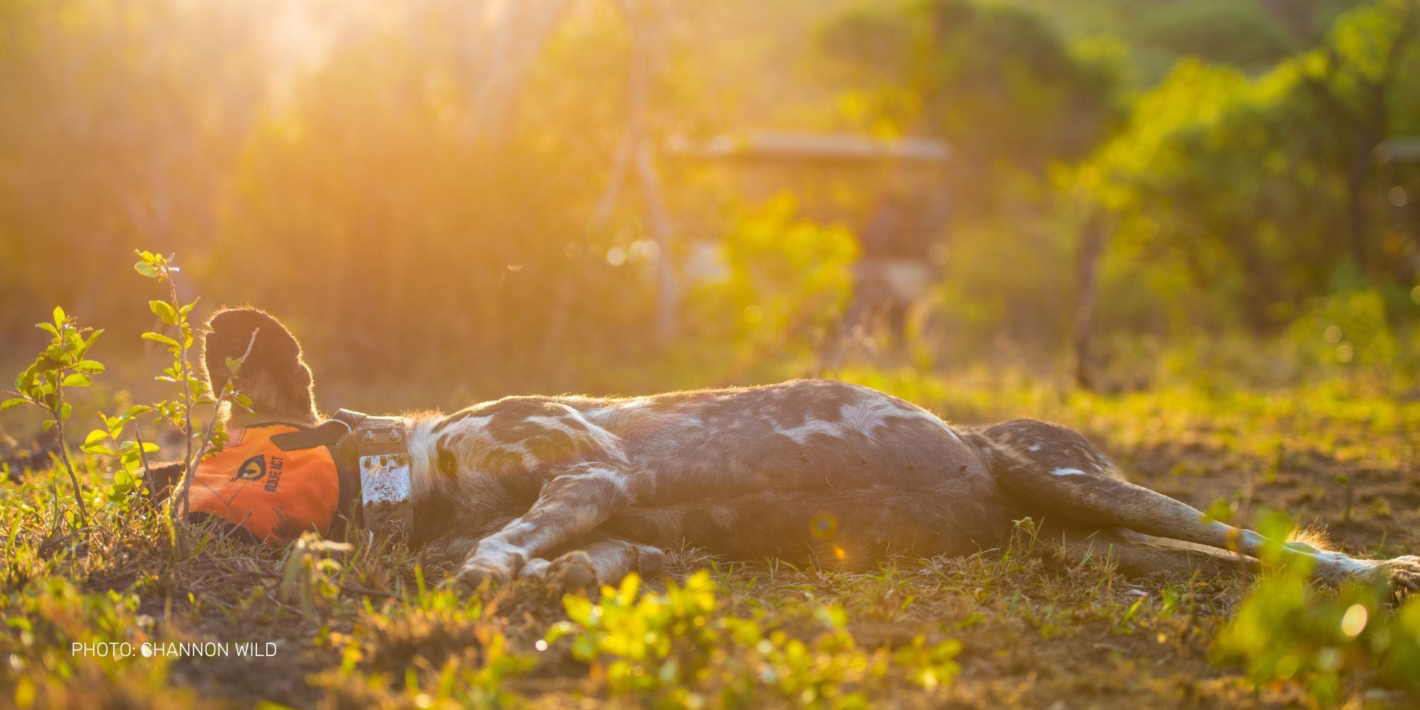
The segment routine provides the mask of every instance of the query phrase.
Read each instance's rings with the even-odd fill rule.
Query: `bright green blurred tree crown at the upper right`
[[[1420,77],[1416,7],[1348,13],[1323,47],[1257,80],[1180,62],[1076,189],[1115,216],[1130,250],[1186,264],[1217,314],[1240,312],[1254,329],[1294,318],[1338,264],[1393,274],[1397,254],[1369,226],[1386,195],[1372,151],[1387,126],[1413,121],[1393,97]]]

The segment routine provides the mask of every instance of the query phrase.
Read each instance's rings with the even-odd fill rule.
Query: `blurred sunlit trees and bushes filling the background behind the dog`
[[[398,405],[814,373],[892,349],[843,342],[883,335],[859,260],[937,204],[889,234],[930,244],[919,365],[1056,368],[1085,322],[1123,386],[1204,334],[1414,376],[1420,166],[1377,148],[1420,135],[1416,0],[479,7],[4,3],[0,361],[54,302],[142,329],[105,273],[143,246],[321,382],[462,373]],[[694,149],[755,129],[950,162]]]

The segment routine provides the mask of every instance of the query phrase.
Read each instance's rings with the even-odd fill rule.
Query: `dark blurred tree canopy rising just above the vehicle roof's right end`
[[[841,101],[851,115],[951,141],[968,203],[993,195],[997,173],[1089,155],[1123,115],[1118,57],[1069,47],[1010,4],[859,4],[822,27],[821,45],[861,87]]]

